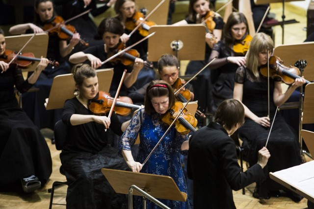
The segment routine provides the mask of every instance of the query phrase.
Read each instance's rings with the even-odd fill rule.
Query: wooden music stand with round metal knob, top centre
[[[205,25],[154,25],[149,30],[153,32],[148,39],[149,61],[158,61],[163,54],[173,54],[178,60],[205,59]]]

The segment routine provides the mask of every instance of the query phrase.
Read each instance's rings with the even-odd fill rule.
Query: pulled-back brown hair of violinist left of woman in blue
[[[85,78],[97,76],[95,69],[87,64],[77,64],[72,68],[72,74],[75,84],[81,86]]]

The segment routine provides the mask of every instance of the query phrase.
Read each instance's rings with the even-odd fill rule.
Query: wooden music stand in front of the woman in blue
[[[114,170],[107,168],[102,168],[102,172],[116,193],[129,194],[129,188],[135,185],[155,198],[183,202],[186,201],[187,194],[180,191],[180,189],[170,176],[136,173],[131,171]],[[137,191],[134,191],[134,195],[143,196]]]

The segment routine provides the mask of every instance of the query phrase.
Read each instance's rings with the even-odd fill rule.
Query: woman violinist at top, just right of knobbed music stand
[[[205,59],[190,61],[186,66],[185,74],[195,74],[198,70],[202,69],[208,63],[211,48],[221,39],[222,29],[224,26],[223,19],[219,14],[210,10],[209,4],[209,0],[190,0],[187,18],[174,24],[184,25],[202,23],[210,17],[205,23],[205,26],[208,29],[205,34]],[[195,91],[195,100],[199,101],[199,106],[202,110],[207,109],[209,112],[211,112],[212,107],[211,74],[212,71],[208,68],[197,76],[197,80],[191,82]]]

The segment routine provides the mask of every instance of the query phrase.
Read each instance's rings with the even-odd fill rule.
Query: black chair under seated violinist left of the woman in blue
[[[62,150],[63,144],[65,142],[65,136],[67,133],[67,125],[64,124],[62,122],[62,120],[58,120],[55,125],[54,125],[54,139],[55,139],[55,148],[57,150]],[[65,175],[62,169],[62,165],[60,166],[60,173],[62,175]],[[49,204],[49,209],[52,208],[52,205],[64,205],[64,204],[56,204],[56,203],[52,203],[53,200],[53,193],[54,193],[54,188],[58,187],[58,186],[63,186],[63,185],[68,185],[68,182],[58,182],[55,181],[52,184],[52,188],[48,189],[48,192],[51,192],[51,196],[50,196],[50,204]]]

